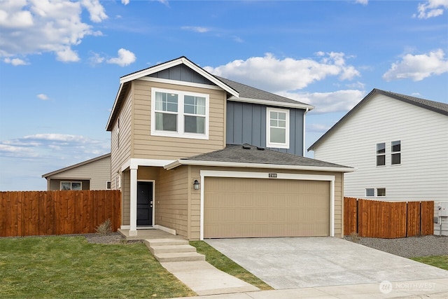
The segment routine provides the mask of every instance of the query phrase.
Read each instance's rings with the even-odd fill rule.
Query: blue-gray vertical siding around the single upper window
[[[226,143],[252,144],[253,146],[260,146],[265,148],[266,108],[267,106],[260,104],[228,101],[226,118]],[[289,111],[289,148],[271,149],[283,153],[303,155],[304,110],[289,109]]]

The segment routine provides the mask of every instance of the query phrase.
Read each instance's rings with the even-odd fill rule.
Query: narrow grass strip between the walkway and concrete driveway
[[[251,272],[248,272],[246,269],[244,269],[244,267],[241,267],[206,242],[190,241],[190,245],[195,246],[197,252],[204,254],[207,262],[211,265],[214,265],[214,267],[218,268],[219,270],[235,276],[243,281],[246,281],[248,284],[252,284],[253,286],[260,288],[260,290],[274,289],[269,286],[269,284],[266,284]]]

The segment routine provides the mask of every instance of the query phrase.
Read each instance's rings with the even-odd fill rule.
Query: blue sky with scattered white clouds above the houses
[[[448,0],[0,0],[0,190],[108,153],[120,76],[180,56],[316,106],[309,146],[373,88],[448,102]]]

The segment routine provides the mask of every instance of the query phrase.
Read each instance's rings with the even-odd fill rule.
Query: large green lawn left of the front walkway
[[[144,244],[85,237],[0,239],[0,298],[172,298],[195,295]]]

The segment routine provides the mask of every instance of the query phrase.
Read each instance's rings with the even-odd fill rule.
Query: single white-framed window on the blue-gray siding
[[[266,147],[289,148],[289,110],[267,108]]]

